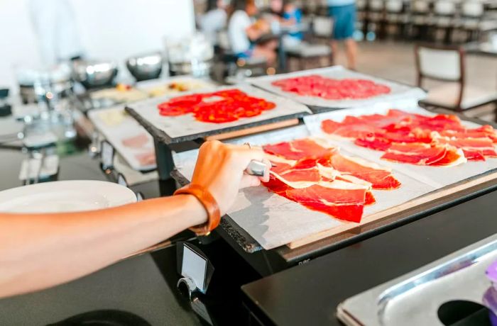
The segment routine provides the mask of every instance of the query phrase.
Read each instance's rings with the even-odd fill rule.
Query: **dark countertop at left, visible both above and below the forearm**
[[[19,150],[0,150],[0,191],[21,186],[18,172],[27,157]],[[84,150],[60,157],[58,179],[108,180],[99,161]],[[131,188],[153,198],[170,192],[170,186],[153,181]],[[1,299],[0,325],[47,325],[81,313],[109,309],[133,313],[153,326],[200,325],[175,288],[175,247],[161,250],[161,268],[154,263],[155,259],[146,254],[45,291]],[[170,276],[169,280],[165,275]]]

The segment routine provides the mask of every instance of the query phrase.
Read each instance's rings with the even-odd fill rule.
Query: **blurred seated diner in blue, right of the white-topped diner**
[[[302,11],[291,0],[271,0],[270,9],[281,26],[297,28],[302,23]],[[304,34],[295,30],[283,36],[283,46],[297,47],[303,39]]]

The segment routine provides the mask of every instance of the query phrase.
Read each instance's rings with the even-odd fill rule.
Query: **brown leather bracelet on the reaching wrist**
[[[221,210],[219,210],[216,199],[207,189],[197,184],[188,184],[174,193],[174,195],[184,194],[195,196],[202,203],[205,210],[207,210],[207,223],[190,227],[190,230],[197,235],[208,235],[221,221]]]

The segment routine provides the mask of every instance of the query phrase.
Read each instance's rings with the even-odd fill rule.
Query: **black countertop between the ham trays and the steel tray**
[[[258,319],[277,325],[340,325],[346,298],[497,232],[497,191],[242,287]]]

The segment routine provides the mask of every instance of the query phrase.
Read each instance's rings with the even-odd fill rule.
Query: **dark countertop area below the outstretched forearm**
[[[153,326],[200,325],[173,291],[147,254],[62,286],[0,300],[0,325],[48,325],[94,310],[126,311]]]

